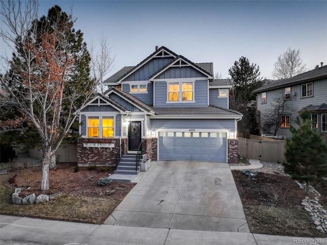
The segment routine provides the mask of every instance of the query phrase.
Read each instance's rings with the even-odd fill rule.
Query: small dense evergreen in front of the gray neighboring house
[[[311,127],[311,117],[308,110],[300,113],[302,123],[297,117],[298,129],[291,125],[292,137],[286,144],[285,158],[283,163],[285,172],[292,179],[306,182],[306,192],[309,196],[309,185],[312,181],[320,181],[327,176],[327,144]]]

